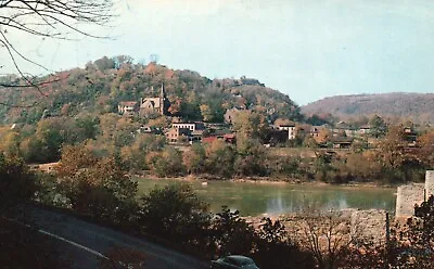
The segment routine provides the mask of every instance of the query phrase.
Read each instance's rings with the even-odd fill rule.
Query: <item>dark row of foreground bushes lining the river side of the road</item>
[[[138,200],[137,182],[126,176],[115,158],[97,157],[82,148],[71,148],[64,154],[63,161],[67,162],[62,163],[55,175],[44,176],[40,181],[18,159],[2,155],[0,183],[13,195],[9,203],[36,197],[100,223],[163,239],[206,259],[246,255],[260,268],[433,268],[434,265],[433,197],[416,208],[417,217],[405,227],[392,230],[384,245],[345,240],[339,230],[341,222],[334,221],[333,216],[320,223],[306,218],[309,228],[306,234],[310,239],[306,245],[299,234],[289,234],[279,220],[266,218],[254,226],[241,218],[238,210],[225,206],[217,214],[210,213],[187,183],[155,188]],[[59,257],[47,254],[55,252],[51,252],[52,244],[41,234],[0,223],[0,267],[20,268],[20,262],[35,260],[33,268],[39,265],[49,265],[39,268],[65,268],[59,266]],[[331,242],[331,247],[308,247],[322,239]],[[119,262],[129,258],[139,264],[145,260],[145,256],[133,249],[112,254]],[[25,255],[28,258],[24,259]]]

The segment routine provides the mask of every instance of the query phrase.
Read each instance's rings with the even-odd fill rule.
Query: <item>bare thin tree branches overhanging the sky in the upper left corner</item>
[[[10,33],[62,40],[73,40],[71,35],[74,33],[92,38],[107,38],[86,31],[80,25],[106,26],[113,16],[113,0],[0,0],[0,49],[5,50],[13,67],[27,82],[25,86],[0,84],[0,87],[35,88],[46,97],[41,85],[35,82],[36,77],[25,76],[17,60],[49,69],[20,52],[8,38]]]

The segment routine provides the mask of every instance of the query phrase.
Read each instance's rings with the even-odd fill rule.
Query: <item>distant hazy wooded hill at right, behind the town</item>
[[[302,107],[306,115],[331,114],[341,120],[370,117],[434,123],[434,93],[381,93],[324,98]]]

